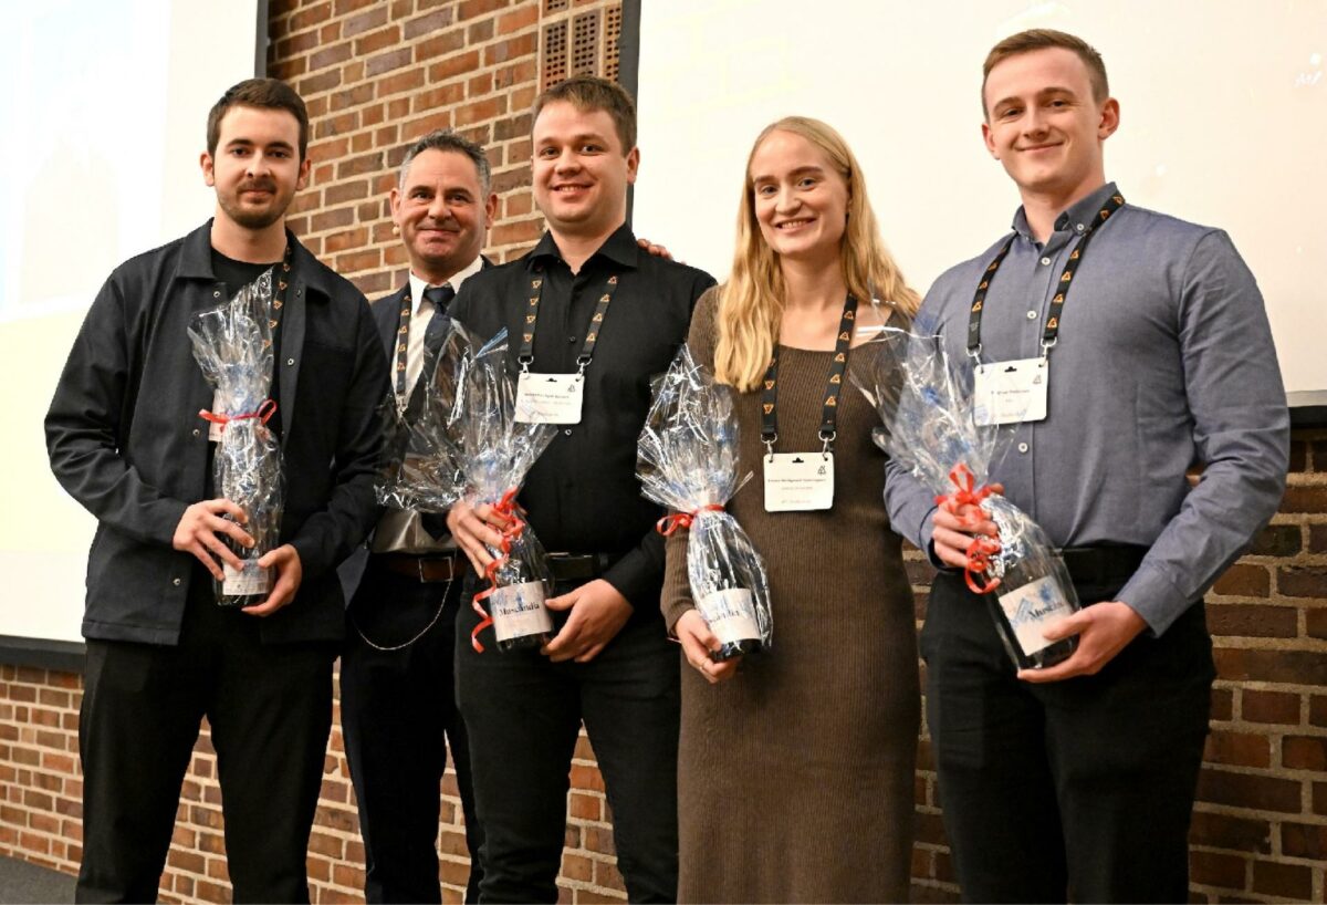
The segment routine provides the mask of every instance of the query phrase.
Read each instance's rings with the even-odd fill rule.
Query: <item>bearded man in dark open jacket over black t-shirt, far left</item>
[[[376,515],[387,369],[364,296],[285,230],[309,173],[307,141],[304,102],[287,85],[249,80],[222,97],[202,157],[215,219],[111,273],[46,415],[50,467],[98,520],[82,624],[77,901],[157,898],[203,717],[235,901],[308,901],[305,855],[345,629],[334,565]],[[280,545],[259,563],[277,580],[260,604],[223,609],[218,560],[239,565],[224,541],[252,539],[223,519],[243,511],[214,499],[199,418],[214,393],[186,330],[273,265],[281,352],[269,427],[281,438],[285,511]]]

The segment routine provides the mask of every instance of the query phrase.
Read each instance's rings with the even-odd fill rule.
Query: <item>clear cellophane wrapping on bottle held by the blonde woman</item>
[[[682,346],[653,385],[653,401],[637,443],[636,474],[644,495],[673,512],[660,523],[670,533],[689,528],[691,596],[721,641],[718,622],[754,621],[770,646],[774,624],[764,561],[736,519],[725,511],[751,478],[742,472],[733,390]]]

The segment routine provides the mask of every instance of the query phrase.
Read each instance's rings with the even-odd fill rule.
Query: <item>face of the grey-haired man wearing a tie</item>
[[[391,222],[427,283],[445,283],[479,257],[498,196],[483,196],[475,162],[460,151],[421,151],[391,190]]]

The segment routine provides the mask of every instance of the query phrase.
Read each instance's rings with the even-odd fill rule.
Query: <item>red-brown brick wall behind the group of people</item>
[[[587,19],[588,13],[597,13]],[[292,227],[370,297],[405,272],[386,192],[401,146],[453,126],[490,149],[499,260],[535,242],[528,109],[545,29],[556,66],[616,72],[620,0],[272,0],[269,72],[305,97],[313,178]],[[594,25],[591,33],[591,25]],[[597,62],[596,62],[597,61]],[[1290,490],[1257,545],[1209,596],[1220,679],[1192,836],[1197,901],[1323,901],[1327,860],[1327,430],[1296,431]],[[918,621],[926,567],[912,560]],[[70,873],[81,855],[77,675],[0,666],[0,853]],[[204,726],[206,730],[206,726]],[[914,898],[955,901],[929,739],[917,772]],[[563,900],[621,901],[602,778],[583,738],[572,768]],[[162,897],[227,901],[215,756],[204,731],[184,782]],[[442,877],[466,877],[454,776],[442,791]],[[362,888],[340,721],[309,845],[314,901]]]

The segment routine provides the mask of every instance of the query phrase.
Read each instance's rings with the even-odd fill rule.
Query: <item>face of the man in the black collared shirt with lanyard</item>
[[[608,111],[553,101],[532,138],[535,202],[555,236],[606,236],[622,224],[640,153],[622,149]]]

